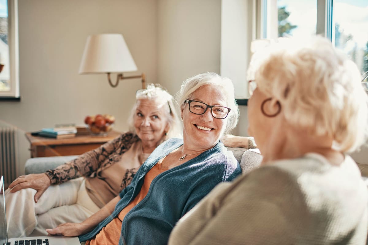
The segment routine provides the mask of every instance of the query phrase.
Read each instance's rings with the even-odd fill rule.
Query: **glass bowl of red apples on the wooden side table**
[[[115,117],[109,114],[86,116],[84,123],[92,135],[106,136],[112,130]]]

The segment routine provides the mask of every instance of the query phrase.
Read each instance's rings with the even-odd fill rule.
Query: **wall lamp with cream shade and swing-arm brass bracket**
[[[87,37],[79,74],[107,73],[112,87],[120,79],[141,78],[142,89],[146,88],[144,73],[137,76],[124,76],[122,72],[137,71],[137,66],[121,34],[99,34]],[[119,73],[116,83],[111,82],[110,73]]]

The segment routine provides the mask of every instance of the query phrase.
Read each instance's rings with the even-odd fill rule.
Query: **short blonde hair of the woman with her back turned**
[[[333,138],[351,152],[368,137],[368,97],[357,66],[323,37],[283,38],[255,55],[259,90],[282,105],[291,125]]]

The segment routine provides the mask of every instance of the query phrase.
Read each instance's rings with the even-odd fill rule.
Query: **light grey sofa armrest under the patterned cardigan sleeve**
[[[45,173],[46,170],[54,169],[55,167],[69,162],[78,155],[74,156],[45,156],[45,157],[35,157],[29,158],[25,162],[24,173]]]

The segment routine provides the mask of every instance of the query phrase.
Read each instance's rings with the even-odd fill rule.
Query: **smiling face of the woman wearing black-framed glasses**
[[[203,102],[207,105],[221,105],[227,107],[226,97],[220,88],[215,85],[204,85],[199,87],[189,100]],[[189,111],[187,103],[181,109],[183,117],[183,138],[185,149],[201,151],[213,147],[222,136],[226,127],[227,118],[217,119],[211,114],[211,110],[202,115]]]

